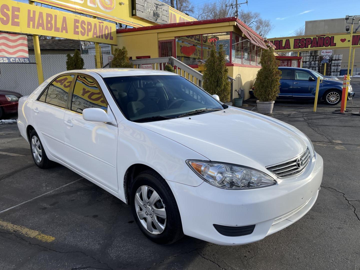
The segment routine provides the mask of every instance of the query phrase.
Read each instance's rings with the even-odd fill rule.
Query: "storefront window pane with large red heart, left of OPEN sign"
[[[202,35],[176,38],[176,58],[187,65],[197,65],[201,56]]]

